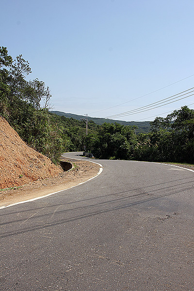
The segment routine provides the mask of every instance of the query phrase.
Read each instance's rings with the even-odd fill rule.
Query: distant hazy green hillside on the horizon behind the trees
[[[72,114],[72,113],[65,113],[61,111],[50,111],[53,114],[57,114],[59,116],[65,116],[67,118],[74,118],[77,120],[81,120],[81,118],[85,118],[83,115],[77,115],[77,114]],[[137,126],[137,132],[140,133],[146,133],[150,129],[150,124],[149,121],[143,121],[143,122],[137,122],[137,121],[122,121],[122,120],[113,120],[113,119],[108,119],[108,118],[97,118],[97,117],[89,117],[88,120],[93,120],[96,124],[103,124],[105,122],[107,123],[119,123],[123,125],[130,125],[130,126]]]

